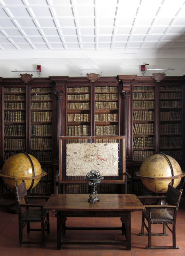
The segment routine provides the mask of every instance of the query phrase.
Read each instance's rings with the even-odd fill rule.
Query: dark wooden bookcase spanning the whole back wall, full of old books
[[[75,181],[65,189],[60,186],[61,136],[125,136],[128,193],[147,192],[135,176],[147,156],[163,152],[185,168],[185,76],[160,82],[137,75],[100,77],[95,82],[57,76],[28,83],[1,77],[0,100],[0,166],[22,150],[34,155],[48,173],[34,193],[56,193],[56,188],[59,193],[79,192]],[[102,183],[99,191],[124,190],[116,182],[109,185]]]

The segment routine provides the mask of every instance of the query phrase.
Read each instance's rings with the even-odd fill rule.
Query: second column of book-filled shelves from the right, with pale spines
[[[155,87],[132,87],[133,107],[133,161],[143,161],[154,153]]]

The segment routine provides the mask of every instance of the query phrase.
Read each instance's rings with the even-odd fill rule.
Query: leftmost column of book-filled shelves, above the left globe
[[[4,87],[4,161],[26,149],[26,87]]]

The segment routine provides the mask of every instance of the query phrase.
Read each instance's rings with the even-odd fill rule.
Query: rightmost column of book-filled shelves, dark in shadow
[[[160,151],[182,160],[182,85],[159,87]]]

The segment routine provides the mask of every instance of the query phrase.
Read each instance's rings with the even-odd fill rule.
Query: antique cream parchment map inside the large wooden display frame
[[[118,176],[118,143],[72,143],[66,147],[67,176],[86,176],[92,170],[101,176]]]

